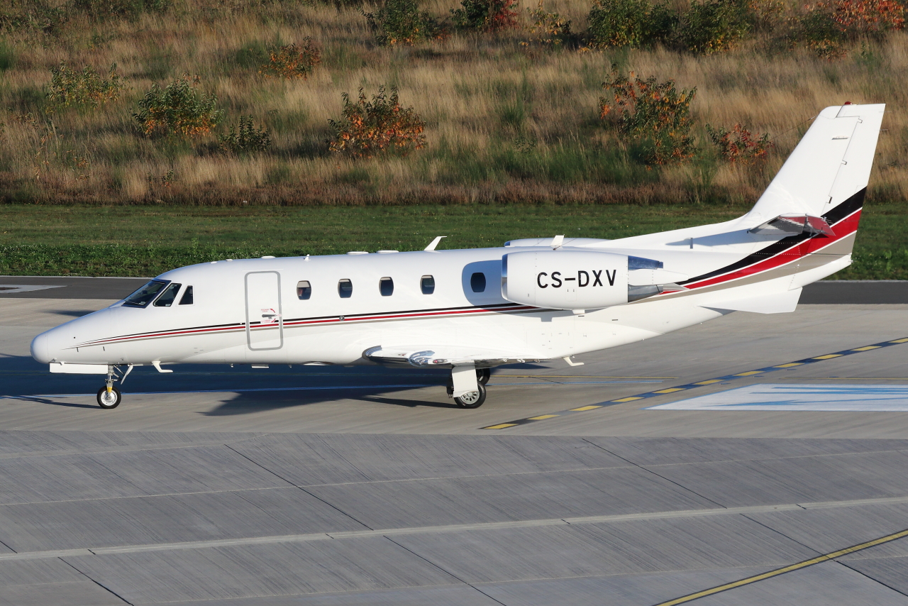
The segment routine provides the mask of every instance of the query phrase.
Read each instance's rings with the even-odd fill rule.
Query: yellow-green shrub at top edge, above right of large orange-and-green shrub
[[[748,17],[748,6],[740,0],[694,0],[681,17],[678,38],[693,53],[726,51],[747,34]]]

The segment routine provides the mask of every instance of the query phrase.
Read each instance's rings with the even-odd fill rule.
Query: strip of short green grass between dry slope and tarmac
[[[499,246],[516,238],[623,238],[740,216],[745,206],[303,207],[0,205],[0,274],[155,275],[225,258]],[[855,263],[834,276],[908,279],[908,204],[864,211]]]

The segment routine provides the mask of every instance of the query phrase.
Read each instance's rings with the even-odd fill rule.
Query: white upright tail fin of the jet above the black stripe
[[[825,108],[748,216],[758,224],[782,214],[824,216],[844,202],[860,208],[884,109],[884,104]]]

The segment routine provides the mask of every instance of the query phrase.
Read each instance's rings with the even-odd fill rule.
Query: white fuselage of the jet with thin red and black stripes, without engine
[[[734,227],[734,222],[729,224],[737,237],[726,240],[736,242],[716,243],[714,250],[700,245],[672,250],[652,242],[646,249],[621,245],[627,241],[577,244],[585,250],[648,255],[664,260],[667,269],[696,275],[765,245],[765,238]],[[683,233],[659,235],[669,236],[671,242]],[[735,290],[663,294],[583,312],[540,309],[502,297],[502,256],[514,250],[506,246],[191,265],[156,278],[181,284],[171,306],[137,308],[114,303],[44,333],[35,339],[33,355],[41,362],[68,364],[350,364],[364,362],[364,351],[381,346],[411,351],[472,347],[501,363],[542,360],[642,341],[705,322],[727,313],[708,303],[728,300],[729,291]],[[770,280],[781,280],[775,286],[761,282],[739,288],[787,290],[797,271],[788,267]],[[474,292],[474,273],[485,277],[483,292]],[[423,276],[432,276],[432,293],[422,292]],[[811,275],[810,282],[819,277],[823,276]],[[393,293],[388,296],[380,293],[382,278],[393,280]],[[351,283],[349,298],[341,297],[341,280]],[[301,281],[311,287],[305,300],[297,293]],[[178,304],[188,286],[192,286],[192,304]]]

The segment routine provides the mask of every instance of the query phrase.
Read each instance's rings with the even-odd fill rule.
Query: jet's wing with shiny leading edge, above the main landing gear
[[[477,366],[494,366],[504,363],[518,363],[544,358],[527,352],[489,349],[486,347],[463,347],[459,345],[403,345],[371,347],[362,356],[372,362],[384,364],[410,364],[419,368],[433,366],[446,368],[476,364]]]

